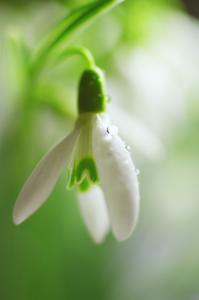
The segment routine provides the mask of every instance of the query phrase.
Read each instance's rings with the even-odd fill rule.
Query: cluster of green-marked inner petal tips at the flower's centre
[[[95,161],[91,157],[84,157],[78,165],[74,163],[73,170],[68,183],[68,189],[71,189],[75,184],[79,184],[81,192],[87,191],[90,184],[99,182]]]

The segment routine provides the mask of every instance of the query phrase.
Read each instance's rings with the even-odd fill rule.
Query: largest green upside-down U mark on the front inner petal
[[[87,157],[87,158],[83,158],[77,168],[76,168],[76,182],[80,182],[82,180],[82,176],[84,171],[88,171],[89,172],[89,181],[92,183],[96,183],[99,181],[98,179],[98,175],[97,175],[97,170],[96,170],[96,166],[95,166],[95,161],[93,158],[91,157]]]

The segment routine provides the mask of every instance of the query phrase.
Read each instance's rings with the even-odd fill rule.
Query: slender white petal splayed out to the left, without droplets
[[[63,138],[42,158],[23,186],[13,210],[16,225],[32,215],[48,198],[78,141],[81,129]]]

